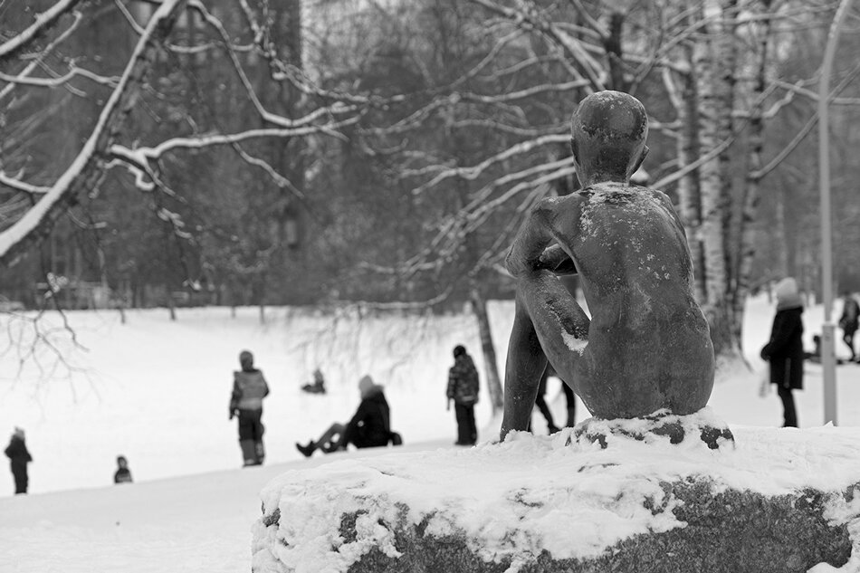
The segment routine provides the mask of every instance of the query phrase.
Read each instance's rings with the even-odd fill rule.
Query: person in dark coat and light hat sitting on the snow
[[[346,450],[349,444],[357,448],[387,445],[393,433],[391,411],[382,387],[365,375],[358,380],[358,392],[361,394],[361,403],[346,425],[336,422],[320,435],[319,440],[311,440],[307,445],[296,443],[296,449],[306,457],[311,457],[317,450],[326,454]]]

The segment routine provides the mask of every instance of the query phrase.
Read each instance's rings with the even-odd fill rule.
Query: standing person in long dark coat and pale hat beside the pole
[[[770,363],[770,383],[777,385],[782,400],[783,427],[798,427],[798,413],[792,390],[803,388],[803,302],[798,283],[791,277],[780,281],[775,289],[777,314],[773,318],[770,339],[761,349],[761,358]]]

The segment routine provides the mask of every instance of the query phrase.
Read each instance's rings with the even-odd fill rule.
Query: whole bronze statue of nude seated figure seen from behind
[[[571,131],[582,189],[534,205],[505,261],[517,295],[502,439],[529,428],[548,359],[600,419],[690,415],[711,396],[713,347],[683,225],[663,192],[630,183],[648,151],[645,107],[600,91]],[[565,273],[578,273],[590,320]]]

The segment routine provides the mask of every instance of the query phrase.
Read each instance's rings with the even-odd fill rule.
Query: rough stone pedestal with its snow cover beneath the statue
[[[568,429],[285,473],[253,571],[860,571],[860,428],[732,430],[735,447]]]

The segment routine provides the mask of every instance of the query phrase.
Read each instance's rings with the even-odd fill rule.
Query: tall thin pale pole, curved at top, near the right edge
[[[836,41],[852,0],[841,0],[836,8],[827,48],[821,63],[821,81],[818,82],[818,175],[821,190],[821,288],[824,295],[824,324],[821,326],[821,366],[824,375],[824,423],[836,425],[836,355],[834,344],[833,310],[833,244],[830,222],[830,71],[836,53]]]

